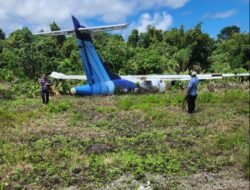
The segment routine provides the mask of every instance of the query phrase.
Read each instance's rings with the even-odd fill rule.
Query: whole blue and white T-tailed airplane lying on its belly
[[[190,75],[127,75],[119,76],[112,73],[103,64],[98,55],[91,38],[95,32],[123,29],[128,24],[118,24],[99,27],[85,27],[72,16],[74,29],[59,30],[51,32],[40,32],[34,35],[70,35],[75,34],[80,50],[80,55],[86,76],[81,75],[64,75],[63,73],[52,72],[50,77],[55,79],[73,79],[86,80],[87,84],[75,86],[70,92],[73,95],[111,95],[116,91],[136,91],[138,88],[147,91],[164,92],[166,84],[164,81],[190,80]],[[222,79],[224,77],[249,76],[249,73],[243,74],[200,74],[197,75],[199,80]]]

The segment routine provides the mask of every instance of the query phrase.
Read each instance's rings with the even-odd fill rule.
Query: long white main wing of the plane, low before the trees
[[[249,73],[240,74],[200,74],[197,75],[200,80],[213,80],[222,79],[225,77],[247,77],[250,76]],[[85,75],[65,75],[63,73],[52,72],[50,77],[55,79],[72,79],[72,80],[86,80]],[[190,75],[121,75],[122,79],[127,79],[131,81],[155,81],[155,80],[165,80],[165,81],[177,81],[177,80],[190,80]]]

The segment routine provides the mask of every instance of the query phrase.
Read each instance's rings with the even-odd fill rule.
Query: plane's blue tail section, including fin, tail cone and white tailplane
[[[79,21],[74,16],[72,16],[72,21],[74,24],[74,29],[36,33],[36,35],[52,36],[70,34],[76,35],[88,84],[73,87],[71,89],[71,93],[77,95],[107,95],[113,94],[116,87],[121,89],[130,88],[131,84],[129,83],[128,85],[128,81],[120,79],[118,75],[111,73],[109,69],[105,67],[100,56],[96,52],[91,38],[91,33],[122,29],[125,28],[127,24],[84,27],[80,25]],[[78,79],[79,77],[71,76],[70,78]],[[124,82],[126,82],[126,84]]]

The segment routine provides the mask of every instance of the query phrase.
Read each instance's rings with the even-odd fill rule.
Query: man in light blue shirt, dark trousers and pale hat
[[[195,99],[197,97],[197,86],[199,79],[196,77],[197,73],[192,71],[191,79],[188,83],[187,89],[187,101],[188,101],[188,113],[194,113],[195,110]]]

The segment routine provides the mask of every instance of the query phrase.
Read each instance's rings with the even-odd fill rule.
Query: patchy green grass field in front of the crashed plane
[[[0,189],[247,188],[249,89],[204,87],[193,115],[182,100],[180,90],[2,99]]]

